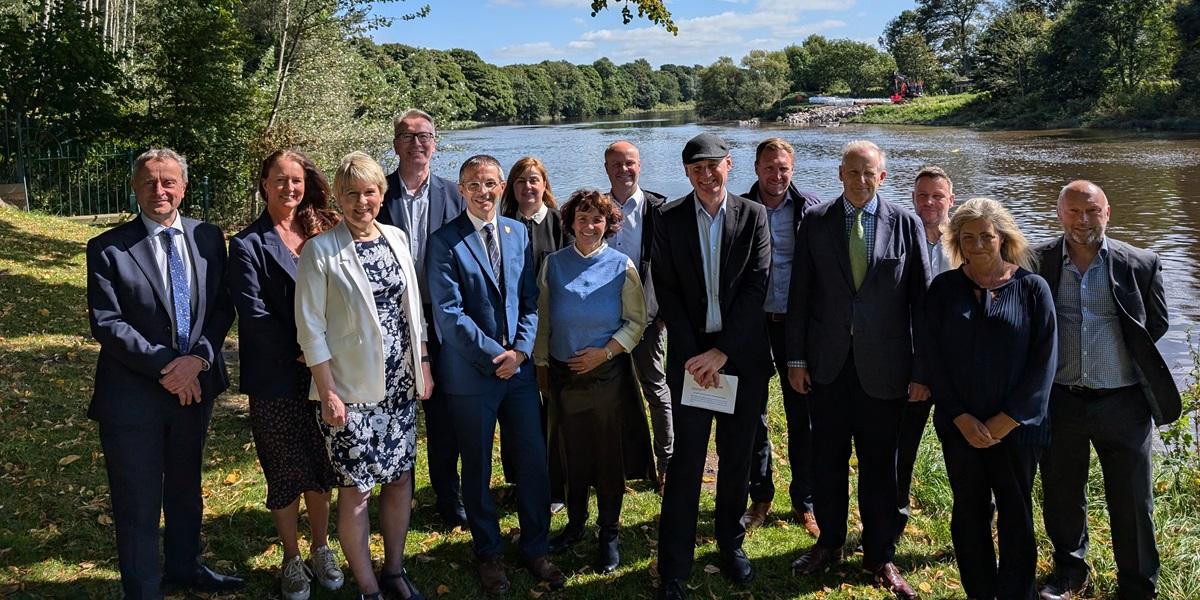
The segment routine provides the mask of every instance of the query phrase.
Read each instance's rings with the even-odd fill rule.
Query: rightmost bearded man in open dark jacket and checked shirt
[[[1088,584],[1090,445],[1104,473],[1117,595],[1157,594],[1150,451],[1153,424],[1180,416],[1180,391],[1154,347],[1168,328],[1163,268],[1153,252],[1105,236],[1110,215],[1099,186],[1072,181],[1058,193],[1063,235],[1036,250],[1058,316],[1050,448],[1042,455],[1055,562],[1039,590],[1045,600],[1079,598]]]

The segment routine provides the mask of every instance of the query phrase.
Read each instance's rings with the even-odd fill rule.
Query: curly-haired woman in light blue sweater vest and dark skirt
[[[538,277],[534,364],[551,398],[566,472],[568,524],[550,550],[562,552],[583,538],[588,487],[595,487],[600,572],[620,563],[617,526],[626,476],[654,478],[650,432],[628,355],[646,329],[642,282],[629,257],[605,242],[623,218],[599,191],[572,193],[563,223],[575,244],[550,254]]]

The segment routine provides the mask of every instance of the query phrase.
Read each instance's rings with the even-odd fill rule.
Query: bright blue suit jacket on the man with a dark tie
[[[497,216],[504,276],[497,281],[484,241],[467,212],[430,238],[430,299],[442,337],[436,361],[446,394],[488,394],[504,382],[492,359],[506,349],[533,358],[538,332],[538,283],[529,234],[523,224]],[[500,293],[503,286],[504,293]],[[533,378],[526,360],[515,377]]]

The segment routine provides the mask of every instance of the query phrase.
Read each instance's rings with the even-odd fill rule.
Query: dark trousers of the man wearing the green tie
[[[846,544],[850,510],[850,452],[858,455],[858,512],[863,520],[863,562],[890,563],[895,554],[896,443],[904,398],[874,398],[858,379],[848,354],[838,378],[812,385],[814,508],[821,523],[817,545]]]

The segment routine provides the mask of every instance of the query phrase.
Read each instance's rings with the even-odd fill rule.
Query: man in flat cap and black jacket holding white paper
[[[721,572],[752,578],[742,550],[750,456],[761,397],[770,379],[762,305],[770,270],[766,209],[726,190],[733,158],[724,139],[701,133],[683,149],[692,192],[666,205],[654,229],[654,286],[667,323],[667,386],[674,454],[659,518],[660,599],[688,598],[696,550],[700,485],[716,421],[716,546]],[[683,404],[684,382],[712,390],[737,378],[732,413]]]

